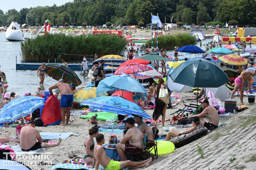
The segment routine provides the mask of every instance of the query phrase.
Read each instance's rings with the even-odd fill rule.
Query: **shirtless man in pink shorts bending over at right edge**
[[[240,103],[241,105],[243,105],[243,84],[244,81],[248,81],[248,88],[249,88],[249,92],[252,93],[251,91],[251,76],[255,76],[256,75],[256,71],[250,72],[249,70],[244,71],[240,76],[238,76],[235,79],[235,87],[234,90],[231,92],[230,98],[232,99],[233,95],[236,93],[236,91],[239,89],[240,91]]]

